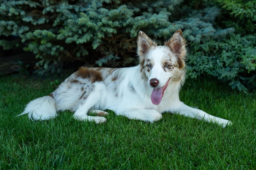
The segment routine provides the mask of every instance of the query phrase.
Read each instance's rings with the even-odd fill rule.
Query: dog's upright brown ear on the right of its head
[[[186,59],[186,41],[183,38],[182,31],[177,30],[170,40],[164,42],[164,45],[168,46],[177,55],[179,68],[183,68]]]

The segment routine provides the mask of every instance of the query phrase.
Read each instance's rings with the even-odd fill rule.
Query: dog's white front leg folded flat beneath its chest
[[[125,111],[117,112],[117,115],[128,117],[128,119],[136,119],[149,121],[151,123],[162,119],[162,114],[153,109],[127,109]]]

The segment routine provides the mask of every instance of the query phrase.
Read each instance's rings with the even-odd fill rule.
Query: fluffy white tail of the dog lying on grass
[[[44,96],[29,102],[23,113],[28,113],[29,119],[31,120],[47,120],[57,116],[55,100],[51,96]],[[18,115],[18,116],[20,116]]]

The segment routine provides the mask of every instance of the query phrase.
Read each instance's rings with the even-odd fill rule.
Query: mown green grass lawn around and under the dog
[[[168,113],[154,124],[111,111],[105,124],[76,121],[69,111],[49,121],[14,117],[31,99],[51,93],[54,82],[0,78],[1,170],[256,168],[255,93],[231,91],[216,80],[187,80],[181,100],[230,119],[227,128]]]

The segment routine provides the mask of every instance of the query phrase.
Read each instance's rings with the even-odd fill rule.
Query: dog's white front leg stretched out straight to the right
[[[204,112],[203,110],[189,107],[183,102],[180,102],[180,105],[175,110],[172,110],[172,112],[186,116],[186,117],[196,118],[198,120],[204,119],[205,121],[208,121],[208,122],[217,123],[223,128],[225,128],[227,125],[232,124],[231,121],[227,119],[222,119],[220,117],[210,115]]]

